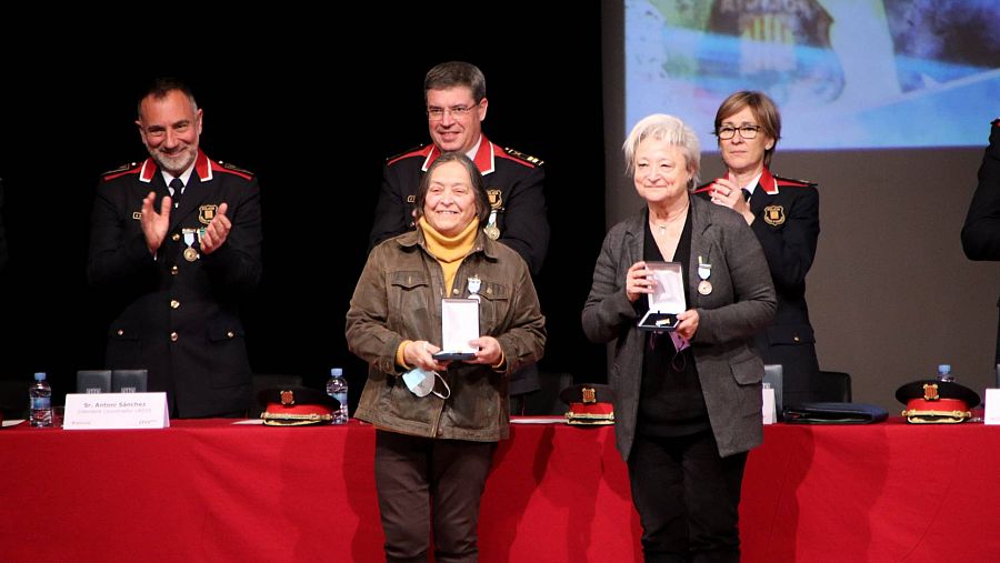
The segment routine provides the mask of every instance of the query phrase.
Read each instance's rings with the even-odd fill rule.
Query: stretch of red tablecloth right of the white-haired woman
[[[768,426],[740,520],[744,561],[1000,561],[1000,426]]]

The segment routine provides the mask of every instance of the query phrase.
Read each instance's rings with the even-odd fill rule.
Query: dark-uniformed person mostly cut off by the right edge
[[[1000,260],[1000,118],[993,120],[990,145],[979,167],[979,187],[962,227],[962,249],[969,260]],[[1000,364],[1000,324],[996,363]]]

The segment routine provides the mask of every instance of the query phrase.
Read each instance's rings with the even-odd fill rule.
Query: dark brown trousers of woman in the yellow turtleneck
[[[376,431],[376,489],[387,562],[426,563],[432,521],[438,562],[477,560],[479,500],[494,448],[493,442]]]

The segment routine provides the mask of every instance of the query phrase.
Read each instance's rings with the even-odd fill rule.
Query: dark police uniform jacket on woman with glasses
[[[698,189],[709,197],[711,183]],[[786,404],[819,401],[816,335],[806,304],[806,274],[819,240],[819,192],[816,184],[776,177],[764,167],[750,198],[756,219],[750,228],[760,241],[778,292],[774,322],[756,338],[764,363],[783,371]]]

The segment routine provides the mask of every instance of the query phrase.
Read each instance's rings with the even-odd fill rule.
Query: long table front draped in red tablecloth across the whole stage
[[[743,561],[1000,561],[1000,428],[772,425],[748,462]],[[380,561],[374,431],[172,421],[0,430],[0,561]],[[514,424],[482,562],[640,561],[611,428]]]

